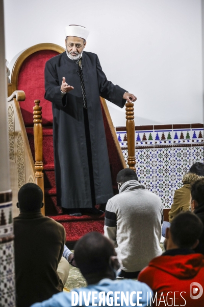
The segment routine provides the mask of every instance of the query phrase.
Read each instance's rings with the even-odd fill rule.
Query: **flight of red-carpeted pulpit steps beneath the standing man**
[[[35,161],[33,128],[26,128],[26,130]],[[62,208],[57,206],[52,128],[43,127],[43,163],[45,215],[52,217],[64,226],[67,242],[77,241],[81,236],[91,231],[104,233],[104,214],[70,216],[63,214]]]

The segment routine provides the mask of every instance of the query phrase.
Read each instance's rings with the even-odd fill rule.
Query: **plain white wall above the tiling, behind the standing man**
[[[90,30],[87,51],[134,93],[135,124],[203,122],[201,0],[5,0],[6,57],[41,42],[64,47],[64,28]],[[109,103],[115,126],[125,110]]]

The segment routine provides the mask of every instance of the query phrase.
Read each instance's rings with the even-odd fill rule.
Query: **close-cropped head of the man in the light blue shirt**
[[[74,258],[82,274],[106,272],[110,256],[116,255],[111,241],[99,232],[84,235],[74,247]]]

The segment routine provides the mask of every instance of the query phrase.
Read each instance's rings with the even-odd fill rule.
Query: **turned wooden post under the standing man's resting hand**
[[[126,131],[127,131],[127,164],[129,168],[136,171],[135,164],[135,121],[134,121],[134,103],[126,102]]]

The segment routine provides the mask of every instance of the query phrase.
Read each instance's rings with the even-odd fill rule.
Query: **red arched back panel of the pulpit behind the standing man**
[[[25,92],[25,101],[19,102],[25,127],[33,126],[34,100],[42,106],[42,125],[53,125],[52,103],[44,99],[44,68],[48,59],[59,53],[42,50],[31,54],[21,65],[18,75],[18,90]]]

